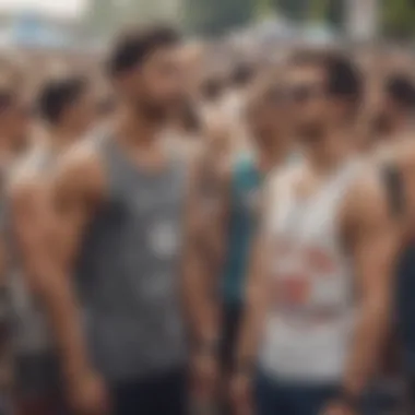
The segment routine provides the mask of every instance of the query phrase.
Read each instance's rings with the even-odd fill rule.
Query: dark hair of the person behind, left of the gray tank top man
[[[46,82],[38,98],[38,112],[49,123],[59,122],[63,111],[87,88],[83,76],[70,76]]]

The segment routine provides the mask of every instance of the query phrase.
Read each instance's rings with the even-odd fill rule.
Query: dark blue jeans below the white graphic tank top
[[[319,415],[337,391],[337,384],[285,383],[259,374],[254,390],[257,414]]]

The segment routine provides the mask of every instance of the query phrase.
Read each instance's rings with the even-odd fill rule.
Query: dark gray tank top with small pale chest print
[[[96,141],[108,199],[81,247],[78,288],[97,369],[110,381],[185,364],[180,257],[186,168],[151,175],[115,140]]]

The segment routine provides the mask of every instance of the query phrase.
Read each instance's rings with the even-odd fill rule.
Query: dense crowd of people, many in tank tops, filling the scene
[[[210,54],[0,68],[5,415],[415,413],[411,57]]]

